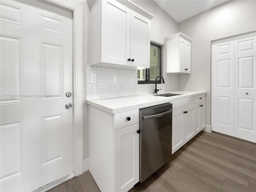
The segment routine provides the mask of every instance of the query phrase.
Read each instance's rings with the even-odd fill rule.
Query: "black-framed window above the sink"
[[[161,46],[150,43],[150,68],[138,70],[138,84],[154,84],[161,75]],[[158,78],[157,83],[161,83]]]

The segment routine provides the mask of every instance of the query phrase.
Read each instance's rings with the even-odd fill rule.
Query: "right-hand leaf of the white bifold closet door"
[[[235,136],[256,142],[256,33],[235,37]]]

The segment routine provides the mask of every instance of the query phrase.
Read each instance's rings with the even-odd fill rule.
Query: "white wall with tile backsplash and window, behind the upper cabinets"
[[[151,35],[150,38],[153,42],[157,44],[164,44],[164,38],[170,36],[171,34],[178,32],[178,24],[166,13],[164,12],[154,1],[152,0],[133,0],[135,4],[142,7],[144,10],[150,12],[155,17],[151,20]],[[133,95],[140,93],[152,93],[154,90],[154,85],[138,85],[136,70],[122,70],[122,69],[113,69],[113,68],[102,68],[102,67],[91,67],[88,63],[88,40],[89,40],[89,18],[90,18],[90,10],[86,2],[81,3],[83,5],[83,74],[84,74],[84,90],[83,90],[83,98],[84,98],[84,160],[85,164],[86,159],[88,159],[88,130],[87,130],[87,106],[86,106],[86,94],[88,98],[95,98],[94,92],[96,92],[96,98],[110,98],[114,96],[123,96],[123,95]],[[162,74],[164,75],[166,84],[158,85],[159,88],[163,88],[166,91],[178,90],[178,75],[177,74],[166,74],[164,67],[164,46],[162,46]],[[106,71],[106,73],[105,73]],[[110,86],[110,94],[105,94],[105,89],[107,90],[107,84],[96,84],[96,88],[94,85],[90,84],[90,73],[99,74],[98,77],[101,76],[101,82],[108,82],[108,86]],[[118,79],[121,79],[121,76],[124,75],[124,78],[131,82],[131,85],[128,87],[120,86],[119,84],[111,84],[111,76],[115,73],[118,75]],[[104,76],[106,74],[106,77]],[[166,75],[165,75],[166,74]],[[87,79],[86,79],[87,78]],[[87,81],[87,82],[86,82]],[[123,84],[122,81],[118,81]],[[87,83],[87,84],[86,84]],[[87,88],[86,88],[86,86]],[[118,88],[117,88],[117,87]],[[133,90],[135,87],[135,91]],[[111,89],[112,88],[112,89]],[[113,89],[114,88],[114,89]],[[91,92],[90,92],[91,89]],[[127,91],[129,90],[129,91]],[[131,91],[130,91],[131,90]],[[161,90],[162,91],[162,90]],[[98,93],[98,94],[97,94]],[[87,164],[85,165],[87,167]],[[86,171],[86,169],[84,170]]]

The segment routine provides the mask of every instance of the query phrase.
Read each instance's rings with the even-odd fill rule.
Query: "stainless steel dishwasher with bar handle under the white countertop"
[[[172,156],[172,104],[140,109],[140,182]]]

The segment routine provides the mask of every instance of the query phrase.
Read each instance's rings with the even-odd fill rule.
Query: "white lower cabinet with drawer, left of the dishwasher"
[[[127,192],[139,181],[138,111],[88,105],[89,170],[101,191]]]

